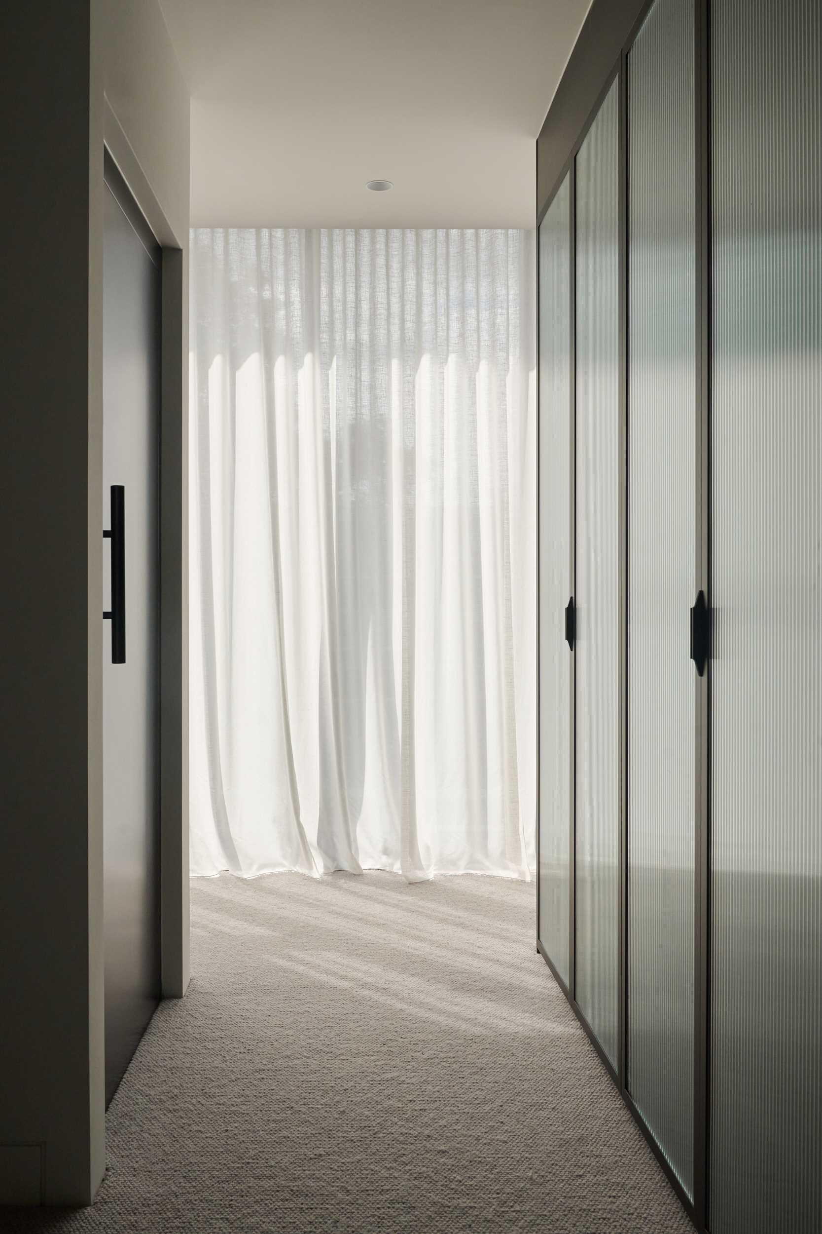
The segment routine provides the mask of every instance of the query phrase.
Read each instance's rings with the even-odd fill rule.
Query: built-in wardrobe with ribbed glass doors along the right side
[[[696,1227],[818,1234],[822,4],[595,0],[539,184],[537,945]]]

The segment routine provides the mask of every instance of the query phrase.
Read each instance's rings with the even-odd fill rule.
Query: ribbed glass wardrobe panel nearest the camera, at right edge
[[[822,1229],[822,5],[712,0],[712,1234]]]

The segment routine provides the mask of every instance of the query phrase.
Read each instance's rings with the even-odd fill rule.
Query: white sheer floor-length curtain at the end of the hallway
[[[191,234],[191,869],[527,877],[535,248]]]

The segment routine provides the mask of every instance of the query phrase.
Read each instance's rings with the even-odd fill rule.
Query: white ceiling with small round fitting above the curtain
[[[160,0],[192,225],[532,227],[534,143],[589,5]]]

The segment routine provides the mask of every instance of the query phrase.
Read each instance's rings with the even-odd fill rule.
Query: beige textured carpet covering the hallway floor
[[[9,1230],[689,1232],[534,946],[484,877],[195,881],[187,997],[108,1112],[92,1208]]]

